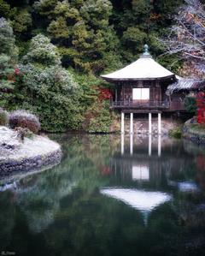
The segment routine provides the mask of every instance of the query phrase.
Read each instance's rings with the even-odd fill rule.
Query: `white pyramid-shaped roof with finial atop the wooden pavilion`
[[[144,54],[134,63],[110,74],[103,74],[104,80],[160,80],[175,78],[175,74],[162,67],[151,57],[148,45],[144,45]]]

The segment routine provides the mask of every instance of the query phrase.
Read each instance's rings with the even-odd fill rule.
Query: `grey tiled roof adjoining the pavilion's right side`
[[[167,87],[167,95],[181,90],[195,91],[205,88],[205,80],[181,78],[177,76],[178,81]]]

